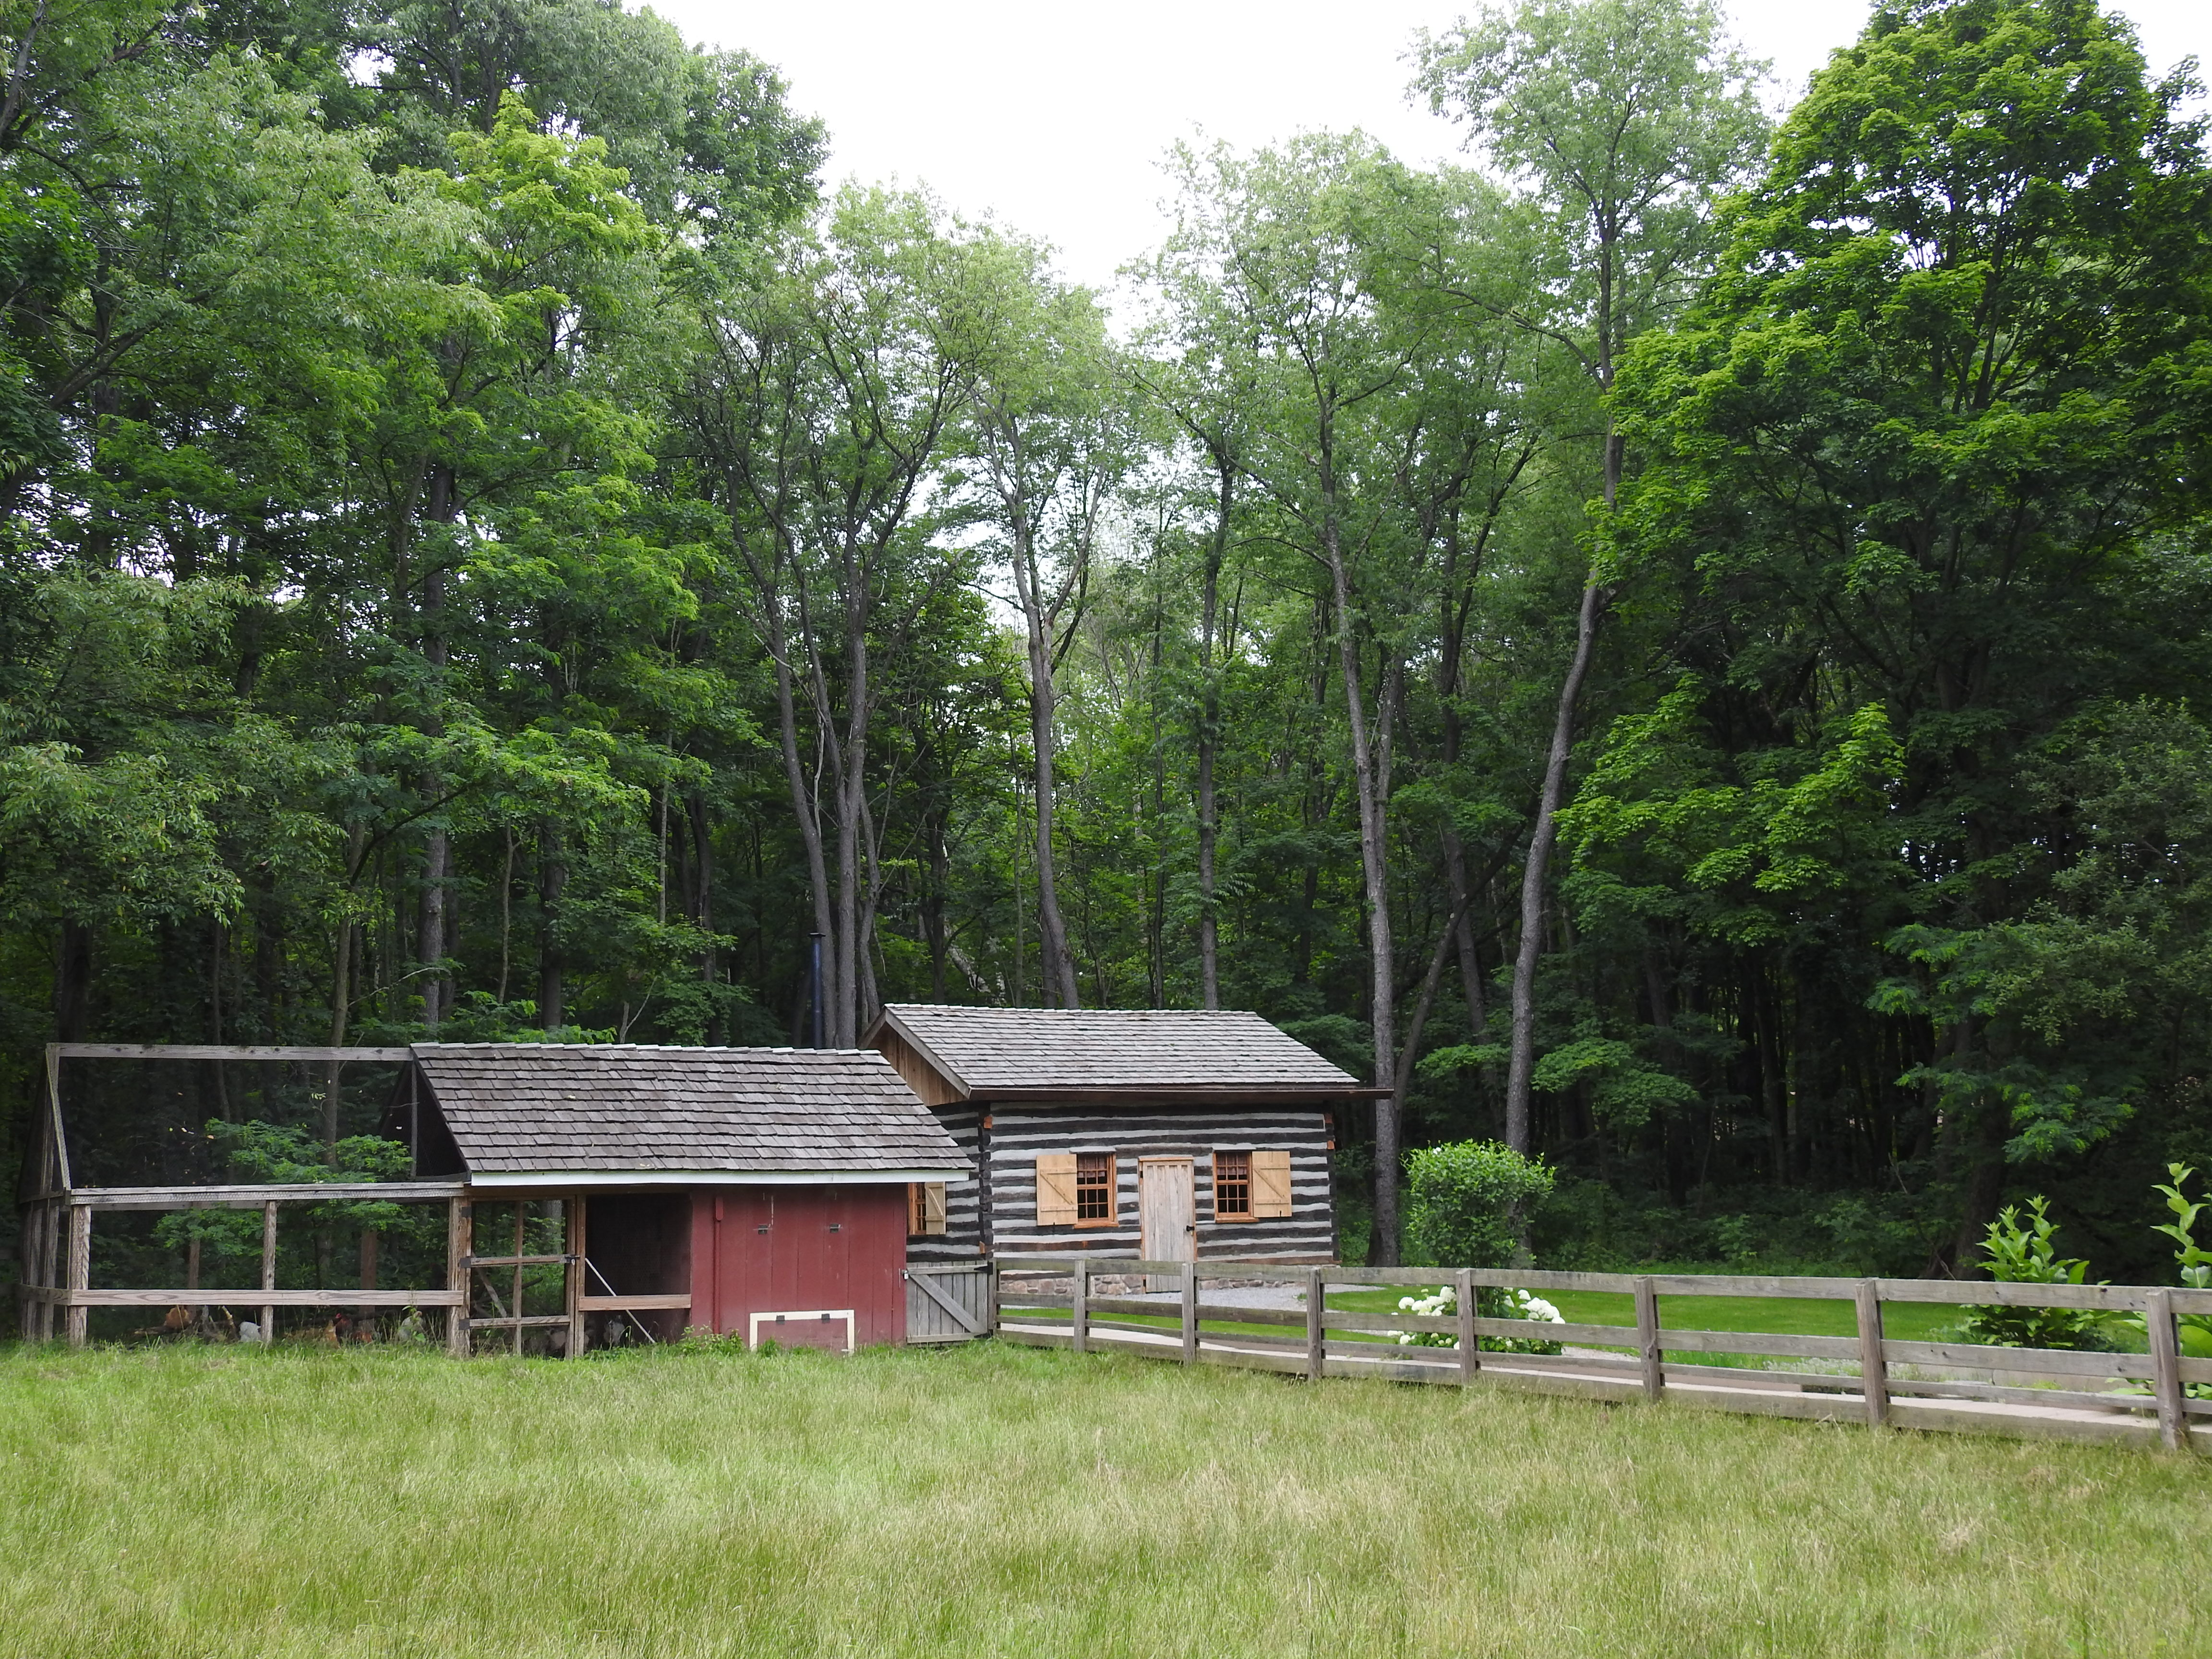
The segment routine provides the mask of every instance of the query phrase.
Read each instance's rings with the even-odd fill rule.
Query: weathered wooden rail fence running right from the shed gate
[[[1663,1400],[1714,1411],[1955,1429],[2026,1438],[2146,1442],[2212,1451],[2212,1360],[2181,1354],[2174,1318],[2212,1314],[2212,1292],[2159,1285],[1978,1285],[1951,1279],[1783,1279],[1763,1274],[1586,1274],[1489,1267],[1285,1267],[1254,1261],[1139,1261],[1024,1254],[995,1263],[998,1336],[1033,1347],[1115,1349],[1186,1365],[1369,1376],[1467,1387],[1493,1383],[1597,1400]],[[1095,1294],[1093,1279],[1172,1279],[1179,1294]],[[1296,1285],[1301,1310],[1243,1307],[1208,1281]],[[1451,1316],[1338,1310],[1329,1292],[1455,1290]],[[1475,1290],[1586,1290],[1626,1294],[1635,1325],[1531,1323],[1475,1312]],[[1812,1298],[1851,1307],[1851,1336],[1668,1329],[1663,1296]],[[2146,1354],[1924,1343],[1882,1329],[1887,1303],[2075,1307],[2139,1314]],[[1259,1325],[1263,1332],[1223,1329]],[[1303,1325],[1301,1336],[1270,1334]],[[1451,1347],[1407,1347],[1400,1336],[1451,1336]],[[1484,1349],[1482,1338],[1544,1338],[1564,1354]],[[1367,1340],[1360,1340],[1367,1338]],[[1391,1340],[1374,1340],[1391,1338]],[[1579,1349],[1579,1352],[1577,1352]],[[1610,1352],[1608,1352],[1610,1349]],[[1728,1354],[1812,1360],[1776,1371],[1677,1360]],[[2106,1385],[2106,1387],[2099,1387]]]

